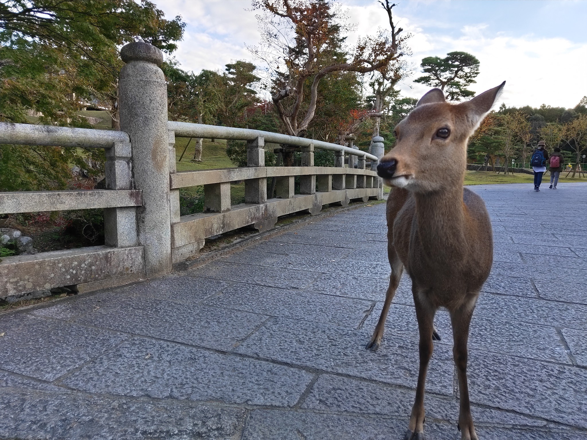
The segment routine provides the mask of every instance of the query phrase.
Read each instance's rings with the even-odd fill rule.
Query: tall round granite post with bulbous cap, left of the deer
[[[163,54],[144,42],[120,50],[120,130],[132,146],[134,186],[143,190],[137,208],[137,235],[144,248],[147,277],[171,272],[167,85]]]

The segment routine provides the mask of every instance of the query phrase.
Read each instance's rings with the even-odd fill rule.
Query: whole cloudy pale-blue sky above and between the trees
[[[260,34],[249,0],[155,0],[168,18],[187,23],[174,53],[185,70],[223,70],[234,60],[254,59],[247,46]],[[419,98],[429,87],[414,83],[426,56],[469,52],[480,61],[476,93],[507,81],[501,101],[508,107],[547,104],[575,107],[587,95],[587,1],[583,0],[403,0],[394,21],[412,37],[411,77],[400,84],[404,96]],[[389,28],[376,0],[339,0],[355,29],[348,35],[375,35]]]

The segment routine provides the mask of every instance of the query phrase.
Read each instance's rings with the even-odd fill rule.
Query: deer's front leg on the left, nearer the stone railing
[[[434,349],[432,332],[434,329],[434,310],[429,304],[423,304],[417,295],[416,287],[412,287],[414,303],[416,304],[416,317],[420,330],[420,370],[418,372],[418,384],[416,387],[416,401],[411,409],[410,425],[404,435],[404,440],[424,440],[424,385],[428,363]]]

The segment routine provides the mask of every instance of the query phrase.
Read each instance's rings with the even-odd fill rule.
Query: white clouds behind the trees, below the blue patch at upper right
[[[250,11],[249,0],[158,0],[157,6],[166,16],[181,15],[187,28],[184,40],[174,54],[185,69],[224,69],[231,60],[253,60],[245,48],[259,42],[255,11]],[[375,35],[377,28],[387,28],[387,15],[378,2],[348,2],[349,23],[356,24],[356,32],[349,35],[352,44],[357,36]],[[408,4],[409,6],[410,4]],[[402,5],[394,8],[396,21],[413,36],[409,46],[415,67],[425,56],[444,56],[453,50],[475,55],[481,62],[477,84],[471,89],[483,92],[507,81],[502,100],[508,106],[574,107],[587,95],[587,43],[573,43],[556,36],[515,35],[494,32],[490,25],[463,23],[460,33],[442,33],[438,24],[417,15],[402,16]],[[435,28],[431,26],[436,25]],[[431,29],[427,31],[427,29]],[[420,97],[427,87],[413,83],[414,76],[402,84],[407,96]]]

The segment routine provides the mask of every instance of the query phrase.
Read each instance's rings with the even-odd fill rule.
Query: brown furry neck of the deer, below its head
[[[424,256],[440,266],[451,265],[467,252],[463,187],[414,195],[417,236]]]

